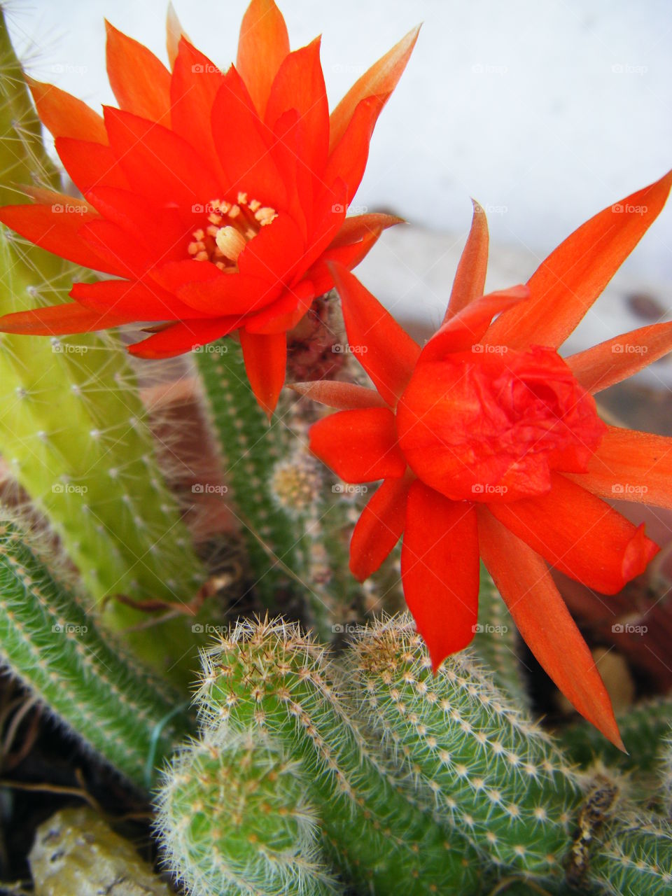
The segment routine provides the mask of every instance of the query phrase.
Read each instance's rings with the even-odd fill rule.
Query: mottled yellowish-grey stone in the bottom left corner
[[[61,809],[30,849],[35,896],[171,896],[134,845],[88,807]]]

